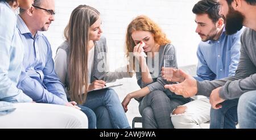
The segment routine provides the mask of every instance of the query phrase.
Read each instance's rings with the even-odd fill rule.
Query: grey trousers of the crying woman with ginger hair
[[[174,128],[170,117],[171,112],[189,101],[191,99],[181,96],[167,96],[163,91],[152,91],[139,103],[142,127],[146,129]]]

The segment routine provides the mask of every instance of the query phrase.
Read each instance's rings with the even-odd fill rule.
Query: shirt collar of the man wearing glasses
[[[36,38],[37,36],[42,36],[43,35],[42,32],[37,31],[35,37],[33,37],[30,30],[28,29],[27,25],[24,23],[23,19],[20,17],[20,15],[18,15],[17,17],[18,17],[17,18],[17,25],[18,25],[19,31],[22,35],[28,33],[28,34],[31,35],[31,37],[33,39]]]

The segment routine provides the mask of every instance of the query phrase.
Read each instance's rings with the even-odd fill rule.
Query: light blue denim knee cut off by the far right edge
[[[238,102],[238,122],[242,129],[256,128],[256,91],[243,94]]]

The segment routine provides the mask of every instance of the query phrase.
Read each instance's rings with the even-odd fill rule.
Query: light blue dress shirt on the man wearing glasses
[[[67,95],[55,73],[51,45],[46,36],[39,31],[32,36],[19,15],[17,23],[24,44],[24,69],[18,87],[36,102],[66,104]]]

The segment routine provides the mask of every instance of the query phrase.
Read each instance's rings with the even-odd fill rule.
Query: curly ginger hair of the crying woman
[[[135,46],[134,40],[131,37],[131,34],[134,31],[148,31],[153,33],[155,43],[159,45],[171,43],[171,41],[167,39],[166,34],[162,32],[162,29],[153,20],[144,15],[137,16],[135,19],[131,21],[131,23],[127,27],[125,40],[126,57],[129,59],[129,63],[133,63],[133,70],[135,70],[135,58],[130,57],[129,53],[133,52]]]

